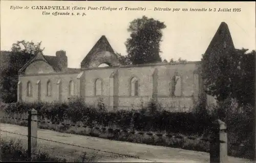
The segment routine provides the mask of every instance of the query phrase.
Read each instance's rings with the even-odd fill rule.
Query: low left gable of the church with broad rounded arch
[[[56,72],[56,69],[45,59],[44,55],[42,55],[42,52],[39,51],[34,57],[32,57],[18,72],[19,74],[24,74],[26,69],[31,66],[32,64],[37,64],[37,63],[44,63],[46,66],[48,66],[48,71],[51,72]],[[45,67],[46,67],[45,66]],[[44,71],[41,70],[41,68],[45,68],[44,66],[40,67],[40,65],[37,66],[40,70],[38,70],[37,73],[44,73]],[[34,68],[34,67],[33,67]],[[34,69],[34,72],[36,69]],[[41,71],[41,72],[40,72]]]

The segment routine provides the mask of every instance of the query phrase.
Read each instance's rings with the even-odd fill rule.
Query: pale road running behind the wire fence
[[[1,139],[22,139],[24,145],[27,145],[27,137],[4,132],[9,131],[27,135],[27,127],[11,124],[0,124],[0,127],[2,130]],[[52,155],[65,157],[70,161],[77,158],[82,152],[86,152],[90,159],[95,157],[94,161],[98,162],[209,162],[209,154],[205,152],[112,141],[44,129],[38,129],[37,137],[61,142],[62,144],[38,139],[38,149],[48,151]],[[65,143],[73,145],[66,145]],[[130,156],[135,158],[130,158]],[[229,157],[229,162],[242,163],[253,161]]]

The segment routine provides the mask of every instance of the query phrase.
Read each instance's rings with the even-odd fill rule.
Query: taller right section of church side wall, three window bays
[[[193,99],[191,95],[193,92],[198,92],[194,85],[194,70],[195,63],[189,64],[175,64],[175,65],[153,65],[153,66],[137,66],[137,67],[120,67],[118,68],[118,108],[119,109],[131,109],[140,108],[143,103],[144,106],[152,98],[152,75],[156,69],[158,69],[158,87],[157,94],[158,100],[163,107],[183,107],[187,109],[193,106]],[[111,96],[111,84],[110,76],[117,68],[94,68],[84,70],[85,74],[85,100],[89,104],[97,105],[99,98],[103,99],[106,106],[110,105]],[[171,97],[170,96],[170,78],[175,74],[182,78],[182,96]],[[139,95],[130,96],[130,80],[132,77],[136,77],[139,80]],[[95,80],[100,78],[102,80],[102,95],[95,96]],[[198,85],[198,83],[195,83]]]

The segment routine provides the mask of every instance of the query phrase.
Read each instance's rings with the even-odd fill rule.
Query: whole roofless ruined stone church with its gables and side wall
[[[230,48],[234,48],[232,38],[222,22],[205,53]],[[206,96],[200,61],[124,66],[105,36],[81,61],[81,68],[67,65],[65,51],[57,51],[56,56],[37,53],[19,70],[18,101],[65,102],[79,97],[91,105],[101,99],[109,110],[131,110],[154,98],[165,110],[189,111]],[[207,96],[208,103],[213,101]]]

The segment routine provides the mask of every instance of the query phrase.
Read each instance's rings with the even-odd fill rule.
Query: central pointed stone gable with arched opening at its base
[[[113,63],[110,63],[110,58]],[[81,68],[97,67],[98,63],[106,63],[108,65],[119,64],[118,57],[116,56],[113,48],[111,47],[108,39],[103,35],[96,42],[93,48],[90,50],[88,55],[82,60]]]

